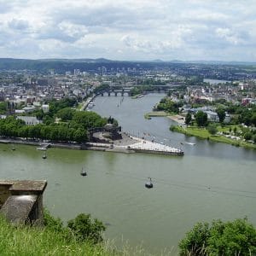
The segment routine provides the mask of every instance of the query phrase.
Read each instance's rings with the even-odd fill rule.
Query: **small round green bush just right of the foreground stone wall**
[[[102,241],[102,231],[106,227],[98,219],[93,221],[90,214],[80,213],[76,218],[67,222],[67,227],[73,232],[78,241],[90,241],[94,244]]]

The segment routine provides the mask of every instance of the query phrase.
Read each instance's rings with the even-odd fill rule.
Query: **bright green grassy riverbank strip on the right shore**
[[[171,131],[176,131],[179,133],[183,133],[188,136],[194,136],[194,137],[199,137],[201,139],[207,139],[215,143],[227,143],[236,147],[244,147],[244,148],[253,148],[256,149],[256,145],[252,143],[247,143],[242,141],[241,139],[238,138],[231,138],[231,137],[226,137],[224,135],[211,135],[209,131],[205,128],[198,128],[198,127],[183,127],[183,126],[178,126],[178,125],[172,125],[170,127]]]

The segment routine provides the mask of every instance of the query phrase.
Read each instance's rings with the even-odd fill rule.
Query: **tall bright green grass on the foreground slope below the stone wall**
[[[172,255],[166,252],[164,255]],[[143,247],[130,247],[125,243],[121,249],[113,245],[113,241],[104,241],[98,245],[79,242],[75,239],[67,241],[60,232],[31,226],[15,227],[0,216],[0,255],[1,256],[149,256]]]

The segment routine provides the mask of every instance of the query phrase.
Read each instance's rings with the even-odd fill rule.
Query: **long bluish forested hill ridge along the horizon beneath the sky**
[[[50,69],[55,70],[56,73],[65,73],[66,71],[73,72],[74,69],[79,68],[81,71],[91,73],[98,72],[99,67],[110,68],[155,68],[155,67],[188,67],[189,64],[197,65],[256,65],[256,62],[242,62],[242,61],[112,61],[104,58],[98,59],[12,59],[0,58],[0,70],[35,70],[40,72],[48,72]]]

